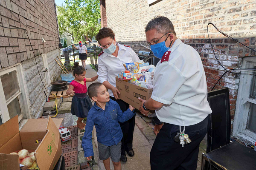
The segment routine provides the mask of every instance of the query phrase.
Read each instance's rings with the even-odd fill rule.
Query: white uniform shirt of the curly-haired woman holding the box
[[[123,63],[125,62],[135,62],[139,61],[137,54],[130,48],[125,47],[117,43],[119,50],[117,57],[103,53],[98,59],[98,81],[103,83],[108,81],[111,85],[116,87],[116,76],[118,76],[121,71],[125,70]],[[108,91],[109,95],[113,97],[111,90]]]

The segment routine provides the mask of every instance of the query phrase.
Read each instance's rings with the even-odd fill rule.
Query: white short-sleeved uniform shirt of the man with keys
[[[156,110],[157,117],[174,125],[195,125],[212,113],[201,57],[180,39],[168,51],[169,61],[159,61],[154,71],[151,98],[164,104]]]

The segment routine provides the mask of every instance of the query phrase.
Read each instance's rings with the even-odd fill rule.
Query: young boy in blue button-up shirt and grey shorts
[[[110,170],[109,157],[111,156],[114,169],[121,170],[120,157],[123,134],[118,122],[131,119],[135,114],[132,112],[135,108],[130,105],[127,111],[122,112],[117,102],[109,99],[108,89],[102,83],[93,83],[87,90],[89,97],[95,103],[88,113],[82,139],[84,157],[90,160],[93,156],[92,131],[93,125],[95,125],[99,159],[103,160],[106,170]]]

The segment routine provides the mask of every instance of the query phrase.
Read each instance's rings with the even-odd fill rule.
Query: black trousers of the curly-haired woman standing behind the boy
[[[129,104],[122,101],[122,100],[116,100],[114,97],[110,98],[118,103],[120,106],[122,112],[127,111],[129,108]],[[133,140],[133,133],[134,133],[134,126],[135,126],[135,115],[129,119],[126,122],[119,122],[120,127],[122,129],[123,137],[122,137],[122,152],[121,155],[125,155],[126,152],[129,152],[129,150],[132,150],[132,140]]]

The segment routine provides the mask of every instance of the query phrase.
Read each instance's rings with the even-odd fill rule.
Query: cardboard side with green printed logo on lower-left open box
[[[44,136],[43,141],[35,150],[38,167],[40,170],[53,170],[60,156],[61,140],[59,131],[52,118],[49,118],[47,133]]]

